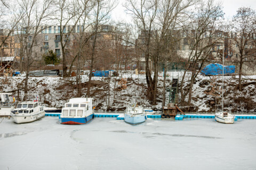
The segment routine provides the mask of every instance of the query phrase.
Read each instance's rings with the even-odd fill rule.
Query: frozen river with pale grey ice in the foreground
[[[2,118],[0,119],[0,122]],[[256,169],[256,120],[0,123],[0,169]]]

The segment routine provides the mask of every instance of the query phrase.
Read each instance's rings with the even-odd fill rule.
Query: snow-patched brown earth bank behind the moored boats
[[[170,86],[173,76],[181,77],[183,72],[167,72],[169,77],[166,80]],[[147,83],[145,74],[135,75],[133,72],[124,72],[119,77],[111,77],[110,83],[110,111],[120,111],[125,107],[124,103],[113,100],[114,98],[131,102],[132,96],[140,96],[143,107],[158,110],[162,107],[162,87],[163,73],[158,73],[158,96],[157,105],[152,106],[147,99]],[[126,79],[126,89],[122,89],[118,84],[121,79]],[[23,93],[23,83],[25,77],[0,77],[0,91],[15,91],[17,98]],[[186,77],[188,83],[189,74]],[[87,75],[82,76],[82,97],[86,94],[86,84],[89,80]],[[106,111],[108,104],[108,80],[101,77],[93,77],[93,87],[91,95],[95,99],[96,109]],[[225,77],[225,108],[231,112],[256,112],[256,75],[243,77],[243,91],[238,91],[238,77]],[[246,84],[247,83],[247,84]],[[251,83],[251,84],[250,84]],[[30,77],[29,93],[43,94],[44,104],[49,107],[61,108],[63,104],[72,97],[76,97],[76,78],[63,79],[60,77]],[[215,112],[221,108],[221,84],[222,77],[204,77],[198,75],[193,87],[193,96],[190,111],[194,112]],[[21,89],[17,91],[17,89]],[[18,95],[19,92],[19,95]],[[169,92],[166,92],[166,102]]]

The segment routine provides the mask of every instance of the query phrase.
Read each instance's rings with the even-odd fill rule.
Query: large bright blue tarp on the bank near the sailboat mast
[[[235,73],[236,67],[234,65],[224,66],[224,74]],[[202,71],[201,74],[204,75],[217,75],[222,74],[222,65],[215,63],[207,65]]]

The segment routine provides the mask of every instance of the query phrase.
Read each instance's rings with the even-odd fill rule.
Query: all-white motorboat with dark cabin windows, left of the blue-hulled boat
[[[34,122],[39,118],[44,117],[44,115],[44,109],[39,105],[37,100],[21,102],[11,114],[13,121],[18,124]]]

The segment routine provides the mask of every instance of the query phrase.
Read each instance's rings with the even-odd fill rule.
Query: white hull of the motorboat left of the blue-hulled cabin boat
[[[33,115],[27,115],[27,114],[12,114],[13,122],[20,124],[20,123],[29,123],[34,122],[36,120],[39,120],[40,118],[44,117],[45,113],[44,111],[35,113]]]

